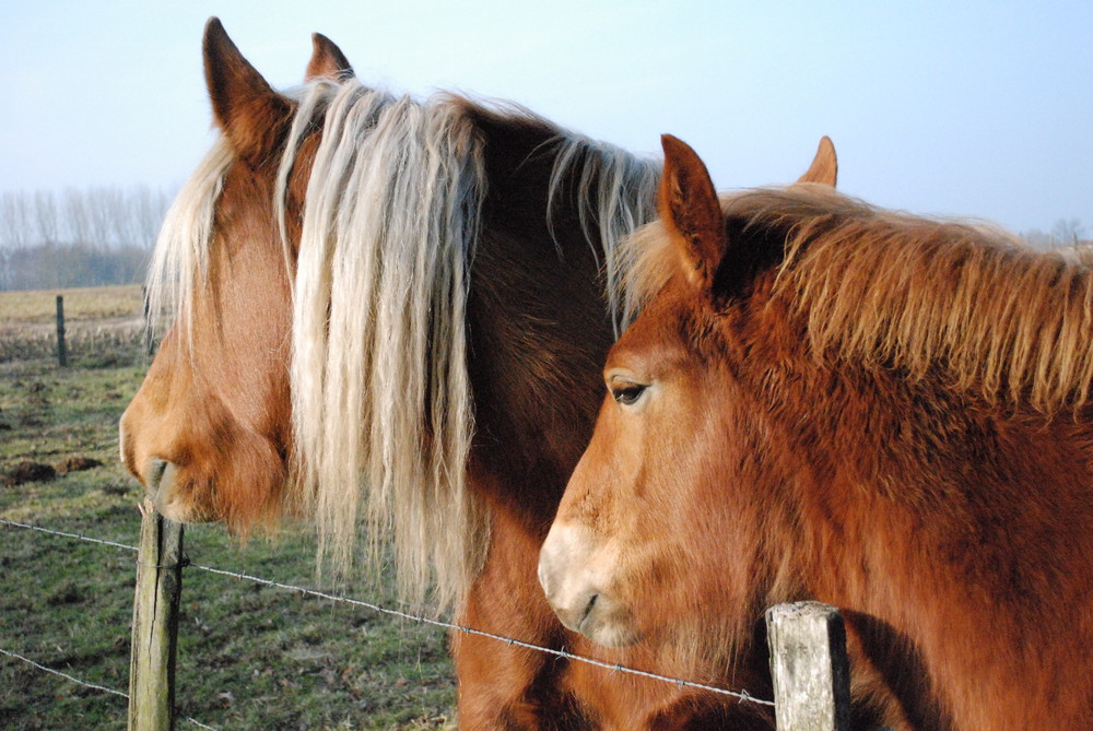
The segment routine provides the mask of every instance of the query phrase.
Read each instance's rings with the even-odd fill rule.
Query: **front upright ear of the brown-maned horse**
[[[725,254],[725,223],[714,181],[685,142],[660,138],[665,175],[660,179],[660,217],[679,246],[684,271],[696,286],[709,288]]]

